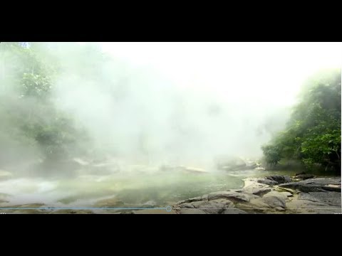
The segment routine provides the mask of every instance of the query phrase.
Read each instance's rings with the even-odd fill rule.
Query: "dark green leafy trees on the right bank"
[[[269,165],[296,159],[307,169],[341,170],[341,70],[306,81],[286,129],[262,150]]]

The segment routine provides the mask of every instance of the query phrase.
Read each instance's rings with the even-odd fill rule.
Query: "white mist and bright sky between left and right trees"
[[[142,162],[257,157],[261,144],[284,127],[304,80],[316,70],[341,66],[341,43],[98,47],[113,57],[93,63],[103,68],[108,86],[73,77],[77,67],[71,66],[56,92],[61,107],[76,114],[99,145]]]

